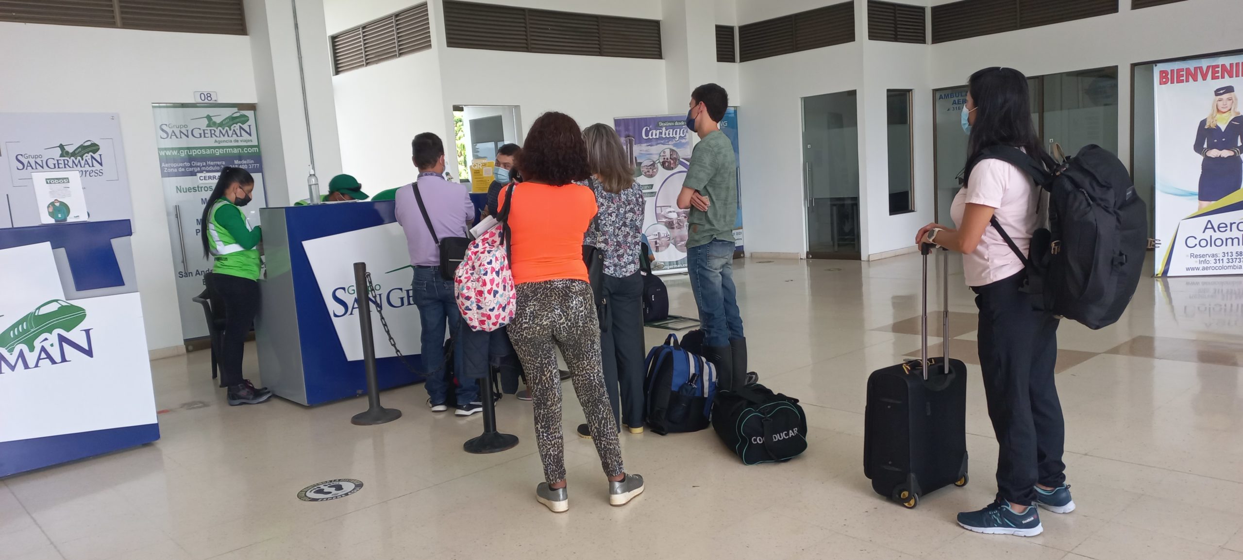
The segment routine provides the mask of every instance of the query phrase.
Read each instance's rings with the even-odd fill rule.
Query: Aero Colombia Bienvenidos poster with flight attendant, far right
[[[1154,81],[1156,276],[1243,273],[1243,56],[1158,63]]]

